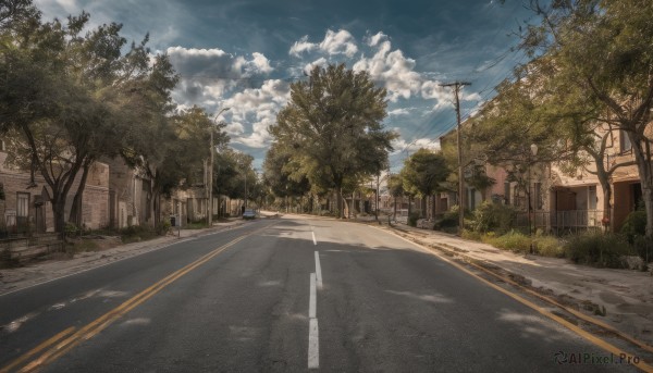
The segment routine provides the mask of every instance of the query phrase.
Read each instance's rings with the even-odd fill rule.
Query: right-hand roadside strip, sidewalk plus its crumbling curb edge
[[[580,265],[405,225],[381,228],[558,308],[590,331],[616,336],[653,353],[653,279],[649,272]]]

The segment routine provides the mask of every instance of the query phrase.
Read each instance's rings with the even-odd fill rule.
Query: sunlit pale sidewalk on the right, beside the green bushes
[[[653,277],[651,272],[596,269],[565,259],[516,254],[493,246],[436,232],[398,225],[391,229],[427,247],[464,260],[495,266],[508,277],[553,296],[564,304],[605,322],[617,331],[653,346]],[[589,312],[605,307],[605,316]]]

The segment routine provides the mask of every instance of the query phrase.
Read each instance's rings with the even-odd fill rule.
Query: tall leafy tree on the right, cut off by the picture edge
[[[600,103],[613,128],[632,145],[653,244],[653,162],[648,125],[653,108],[653,3],[648,0],[532,2],[542,24],[529,27],[523,47],[546,54],[557,76]]]

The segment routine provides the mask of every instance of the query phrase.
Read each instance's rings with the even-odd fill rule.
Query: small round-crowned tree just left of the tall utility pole
[[[404,161],[404,169],[402,169],[404,189],[421,198],[422,217],[426,216],[427,198],[440,188],[448,174],[449,170],[442,153],[428,149],[421,148]]]

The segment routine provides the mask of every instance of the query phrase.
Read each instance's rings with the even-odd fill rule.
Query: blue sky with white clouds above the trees
[[[494,95],[525,62],[515,30],[531,14],[522,0],[35,0],[46,18],[82,10],[91,25],[123,24],[123,35],[168,53],[181,75],[176,103],[211,113],[231,108],[232,146],[260,169],[268,126],[288,100],[288,86],[313,65],[345,63],[387,89],[385,126],[401,138],[393,171],[420,147],[455,127],[453,95],[443,83],[466,80],[461,114]]]

